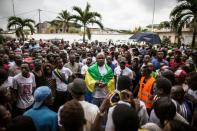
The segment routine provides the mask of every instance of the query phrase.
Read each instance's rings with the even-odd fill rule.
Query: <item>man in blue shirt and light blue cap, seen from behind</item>
[[[57,113],[47,107],[53,103],[51,89],[47,86],[38,87],[34,98],[33,108],[23,115],[32,118],[37,131],[57,131]]]

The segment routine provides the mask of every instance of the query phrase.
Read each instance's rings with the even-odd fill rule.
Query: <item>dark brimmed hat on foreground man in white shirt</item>
[[[72,83],[68,84],[68,91],[71,94],[83,95],[86,92],[86,84],[83,79],[76,78]]]

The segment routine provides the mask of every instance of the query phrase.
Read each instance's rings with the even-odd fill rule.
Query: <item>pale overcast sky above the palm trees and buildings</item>
[[[38,22],[38,9],[42,9],[41,21],[50,21],[61,10],[71,13],[73,6],[84,8],[91,5],[91,11],[102,15],[105,27],[114,29],[132,29],[152,23],[154,0],[13,0],[15,12],[23,18],[32,18]],[[170,11],[176,6],[176,0],[156,0],[155,21],[169,20]],[[12,0],[0,0],[0,27],[7,24],[7,17],[13,15]]]

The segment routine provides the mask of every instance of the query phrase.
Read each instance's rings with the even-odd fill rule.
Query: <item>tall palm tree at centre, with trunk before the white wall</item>
[[[73,15],[72,18],[76,22],[80,22],[83,26],[83,42],[85,42],[85,34],[87,32],[88,39],[91,39],[91,32],[88,28],[89,24],[97,24],[101,29],[103,29],[103,24],[101,23],[101,15],[97,12],[90,11],[90,5],[87,3],[85,10],[80,7],[74,6],[73,10],[77,12],[78,15]]]

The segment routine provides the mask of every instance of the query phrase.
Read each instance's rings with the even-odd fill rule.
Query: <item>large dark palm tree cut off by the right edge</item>
[[[172,10],[170,17],[175,19],[175,27],[179,31],[182,31],[182,28],[188,22],[192,25],[192,47],[195,47],[195,38],[197,35],[197,1],[178,0],[178,5]]]

